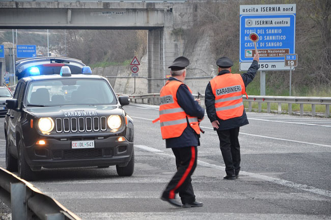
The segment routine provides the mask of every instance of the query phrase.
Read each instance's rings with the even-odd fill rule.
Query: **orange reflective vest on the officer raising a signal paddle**
[[[222,120],[243,114],[242,94],[246,94],[240,74],[223,74],[210,81],[215,96],[216,115]]]

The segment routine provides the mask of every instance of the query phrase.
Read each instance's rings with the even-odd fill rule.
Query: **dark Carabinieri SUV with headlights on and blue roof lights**
[[[37,70],[36,70],[37,71]],[[86,74],[24,77],[14,97],[6,101],[6,167],[18,176],[35,179],[41,167],[108,167],[120,176],[134,169],[133,121],[107,81]]]

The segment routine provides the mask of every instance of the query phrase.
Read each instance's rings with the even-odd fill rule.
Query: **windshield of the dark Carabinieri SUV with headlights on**
[[[116,97],[104,80],[54,79],[30,83],[27,106],[114,105]]]

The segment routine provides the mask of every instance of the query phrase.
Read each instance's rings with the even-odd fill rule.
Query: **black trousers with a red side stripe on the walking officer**
[[[197,146],[172,148],[172,150],[176,157],[177,172],[164,189],[162,197],[175,199],[175,194],[179,192],[183,204],[195,202],[191,175],[197,167]]]

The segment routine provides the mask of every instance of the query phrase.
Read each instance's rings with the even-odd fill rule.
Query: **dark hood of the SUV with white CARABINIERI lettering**
[[[117,105],[29,107],[25,108],[25,111],[37,117],[93,117],[124,113],[123,109]]]

